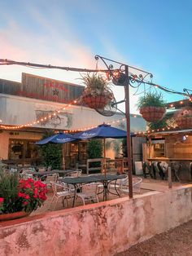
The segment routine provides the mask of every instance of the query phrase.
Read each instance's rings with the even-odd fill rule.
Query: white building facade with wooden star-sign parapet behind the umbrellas
[[[22,74],[21,82],[0,79],[0,157],[19,165],[41,163],[35,142],[46,130],[76,132],[103,122],[126,129],[124,115],[103,117],[92,108],[78,104],[84,86],[46,77]],[[146,121],[130,116],[131,131],[146,130]],[[86,143],[64,145],[68,167],[85,161]],[[115,157],[109,149],[107,156]]]

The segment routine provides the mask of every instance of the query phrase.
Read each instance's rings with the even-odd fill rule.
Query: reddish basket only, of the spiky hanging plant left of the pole
[[[82,99],[83,102],[89,106],[89,108],[104,108],[108,102],[108,99],[105,95],[85,95]]]

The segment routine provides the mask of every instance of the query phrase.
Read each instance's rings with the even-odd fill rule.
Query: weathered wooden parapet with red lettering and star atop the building
[[[68,104],[78,99],[84,86],[22,73],[22,82],[0,79],[0,93]]]

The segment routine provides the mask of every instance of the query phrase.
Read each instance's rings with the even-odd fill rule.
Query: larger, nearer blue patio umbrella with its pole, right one
[[[109,126],[107,124],[100,125],[96,128],[82,131],[76,135],[73,135],[75,139],[103,139],[104,144],[104,172],[106,175],[106,150],[105,150],[105,139],[122,139],[127,137],[127,132],[125,130],[120,130],[118,128]]]

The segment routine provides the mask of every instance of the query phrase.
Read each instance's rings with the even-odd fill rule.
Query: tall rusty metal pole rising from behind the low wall
[[[131,131],[130,131],[130,110],[129,110],[129,67],[127,65],[125,65],[125,75],[127,77],[127,82],[126,82],[126,85],[124,86],[124,96],[125,96],[125,117],[126,117],[126,123],[127,123],[129,198],[133,198]]]

